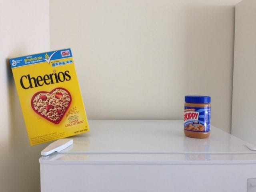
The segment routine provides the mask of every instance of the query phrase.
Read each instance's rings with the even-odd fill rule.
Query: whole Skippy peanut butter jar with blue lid
[[[208,138],[211,120],[210,96],[185,96],[184,134],[192,138]]]

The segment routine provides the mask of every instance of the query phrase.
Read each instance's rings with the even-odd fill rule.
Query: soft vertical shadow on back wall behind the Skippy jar
[[[234,6],[188,6],[185,25],[186,94],[211,96],[212,124],[228,131],[231,129]]]

